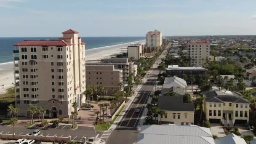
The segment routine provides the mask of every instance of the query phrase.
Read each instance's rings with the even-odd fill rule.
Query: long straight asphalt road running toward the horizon
[[[165,50],[164,52],[167,51]],[[161,55],[160,59],[164,57],[165,54]],[[160,59],[158,60],[159,62],[161,61]],[[155,79],[159,74],[157,66],[157,64],[154,64],[150,69],[150,75],[148,75],[146,82],[142,84],[141,89],[128,107],[125,115],[118,123],[117,127],[112,131],[107,139],[107,144],[133,144],[136,142],[139,133],[137,126],[144,110],[143,105],[147,104],[147,99],[149,98],[150,93],[155,90]],[[136,113],[136,108],[141,109],[141,111]]]

